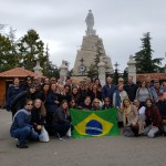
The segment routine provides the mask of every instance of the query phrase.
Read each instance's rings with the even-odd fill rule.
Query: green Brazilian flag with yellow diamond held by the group
[[[84,111],[71,108],[74,129],[72,137],[100,137],[120,135],[117,127],[117,110]]]

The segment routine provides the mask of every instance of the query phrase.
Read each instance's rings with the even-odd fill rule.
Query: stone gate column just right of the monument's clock
[[[102,86],[105,85],[105,62],[103,60],[103,56],[100,58],[98,66],[98,79],[101,81]]]

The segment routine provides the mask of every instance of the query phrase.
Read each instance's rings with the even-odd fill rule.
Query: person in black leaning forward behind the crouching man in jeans
[[[11,102],[12,117],[19,110],[23,108],[23,106],[24,106],[23,104],[27,98],[30,98],[32,101],[34,101],[37,98],[35,92],[37,92],[35,84],[31,84],[27,91],[22,91],[12,100],[12,102]]]

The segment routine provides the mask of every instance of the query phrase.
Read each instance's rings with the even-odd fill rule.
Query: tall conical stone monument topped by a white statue
[[[96,35],[94,27],[94,17],[92,10],[89,10],[87,17],[85,19],[86,23],[86,35],[83,37],[82,45],[77,50],[76,59],[73,68],[73,77],[79,80],[85,80],[90,66],[95,63],[96,56],[103,56],[103,62],[105,62],[105,72],[112,74],[113,65],[111,58],[106,55],[103,40]]]

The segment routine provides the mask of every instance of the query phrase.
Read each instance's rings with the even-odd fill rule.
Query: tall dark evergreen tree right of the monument
[[[154,73],[162,64],[162,58],[153,59],[153,50],[151,45],[151,34],[145,33],[142,40],[142,49],[135,53],[137,73]]]

